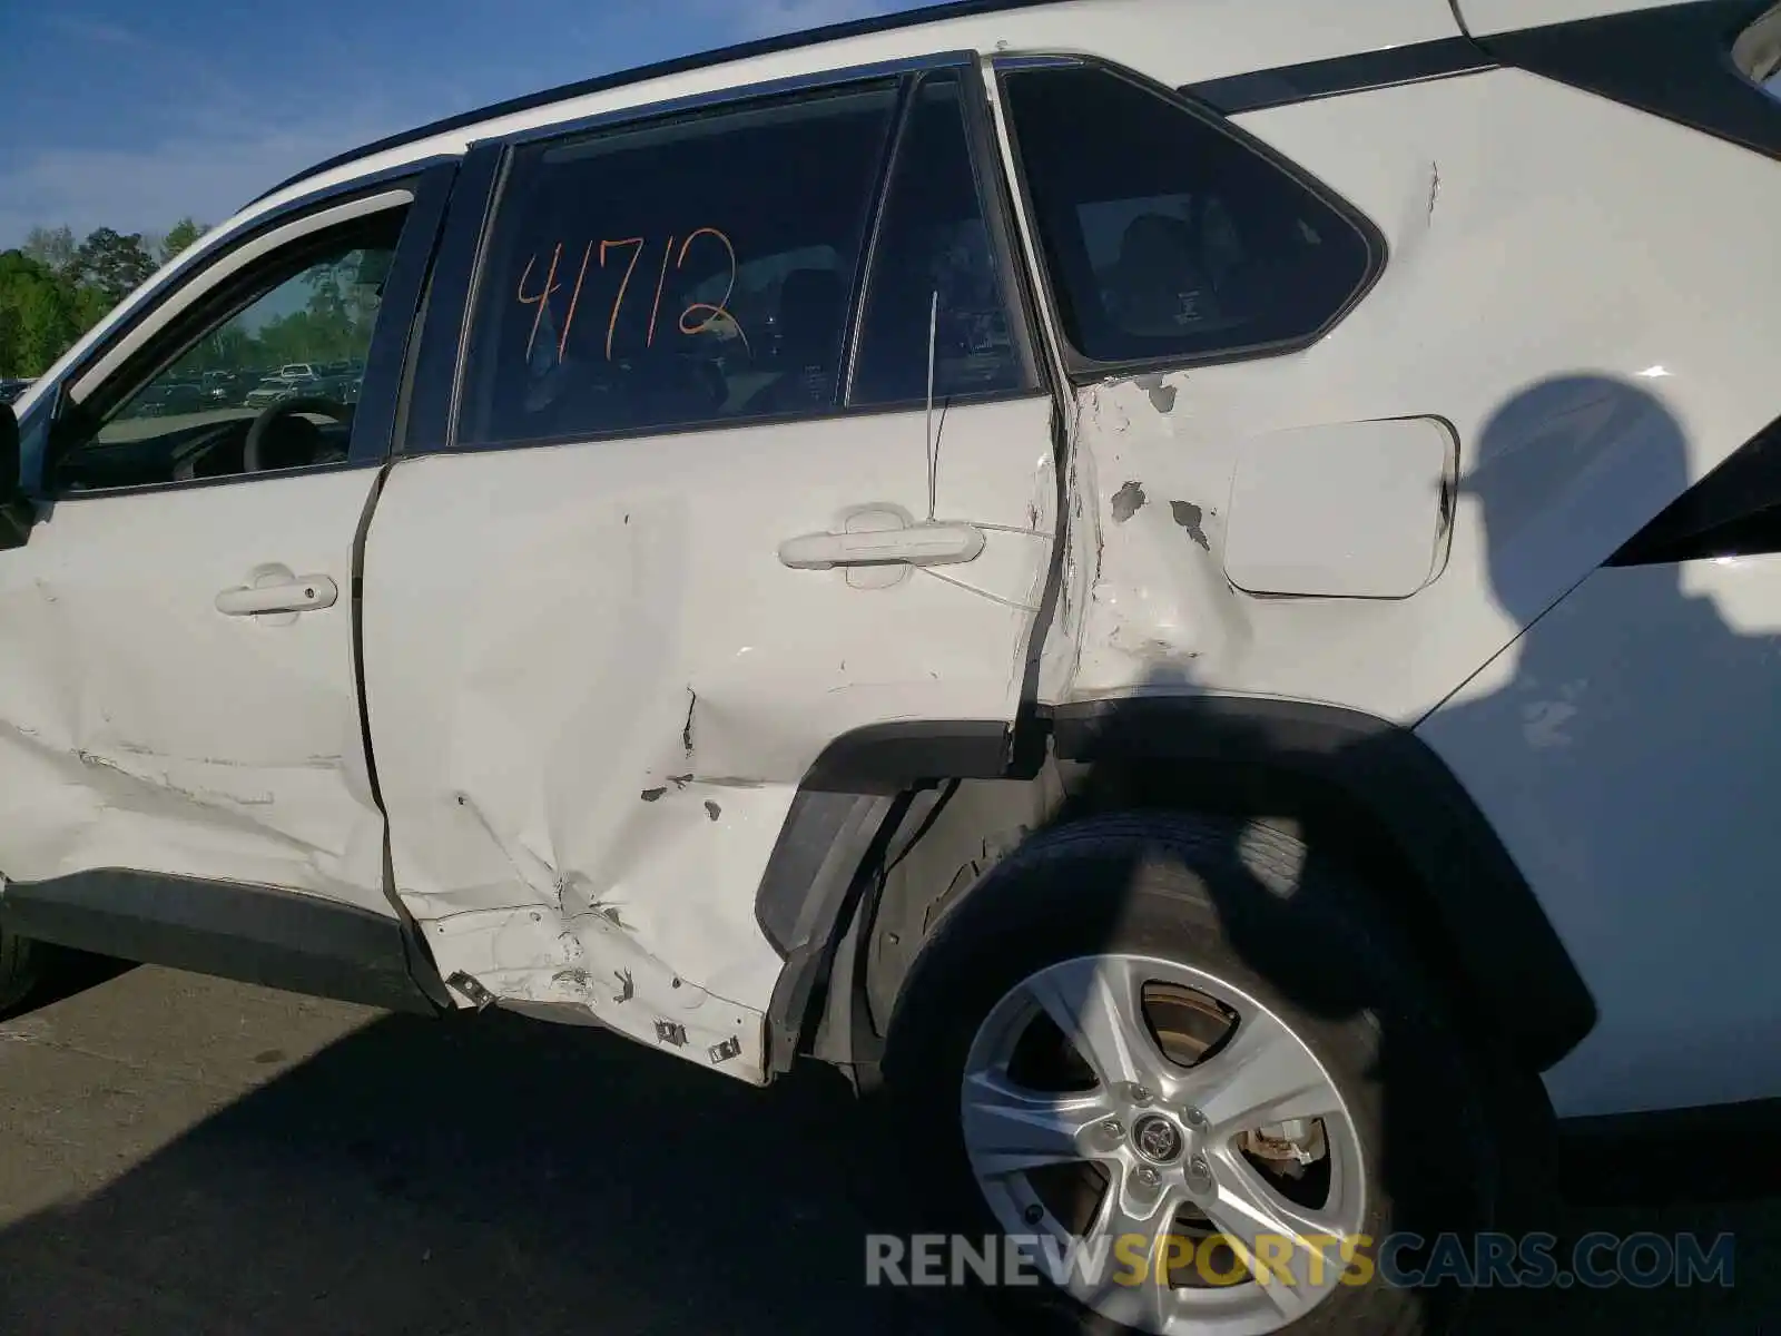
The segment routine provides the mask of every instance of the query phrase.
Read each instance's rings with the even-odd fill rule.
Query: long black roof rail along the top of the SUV
[[[253,207],[262,200],[267,200],[280,191],[296,185],[297,182],[308,180],[310,176],[319,176],[333,167],[344,167],[358,159],[370,157],[372,153],[386,153],[392,148],[401,148],[403,144],[413,144],[422,139],[431,139],[433,135],[449,134],[451,130],[463,130],[483,121],[492,121],[500,116],[515,116],[518,112],[534,110],[538,107],[549,107],[554,102],[566,102],[568,98],[584,98],[591,93],[606,93],[614,87],[625,87],[627,84],[641,84],[650,78],[666,78],[668,75],[684,75],[693,69],[709,69],[712,66],[728,64],[732,61],[748,61],[757,55],[775,55],[778,52],[794,52],[805,46],[821,46],[830,41],[844,41],[848,37],[867,37],[876,32],[894,32],[898,29],[914,29],[923,23],[940,23],[949,18],[972,18],[976,14],[994,14],[1004,9],[1031,9],[1044,4],[1054,4],[1054,0],[944,0],[942,4],[928,4],[917,9],[905,9],[894,14],[874,14],[869,18],[846,20],[844,23],[826,23],[819,29],[805,29],[803,32],[791,32],[782,37],[757,37],[755,41],[736,43],[734,46],[720,46],[711,52],[698,52],[695,55],[680,55],[671,61],[657,61],[655,64],[643,64],[632,69],[620,69],[611,75],[600,75],[597,78],[582,78],[575,84],[559,84],[557,87],[543,89],[541,93],[527,93],[518,98],[508,98],[506,102],[495,102],[488,107],[477,107],[476,110],[459,112],[458,116],[447,116],[442,121],[429,121],[427,125],[419,125],[413,130],[404,130],[401,134],[388,135],[385,139],[376,139],[360,148],[349,150],[346,153],[337,153],[331,159],[317,162],[313,167],[305,167],[294,176],[287,176],[278,185],[269,191],[256,194],[244,207]]]

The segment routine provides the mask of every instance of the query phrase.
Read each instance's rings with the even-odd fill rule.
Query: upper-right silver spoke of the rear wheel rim
[[[1330,1117],[1343,1106],[1311,1051],[1259,1008],[1245,1012],[1224,1051],[1183,1085],[1220,1140],[1288,1119]]]

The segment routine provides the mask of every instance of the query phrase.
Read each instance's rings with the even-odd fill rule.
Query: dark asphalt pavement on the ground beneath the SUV
[[[4,1336],[985,1329],[864,1286],[871,1147],[826,1069],[752,1090],[499,1012],[431,1022],[114,971],[0,1022]],[[1567,1224],[1735,1231],[1731,1288],[1496,1295],[1475,1325],[1772,1324],[1781,1201],[1690,1202],[1674,1163],[1651,1185]]]

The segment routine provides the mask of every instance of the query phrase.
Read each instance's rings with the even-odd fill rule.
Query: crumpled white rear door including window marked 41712
[[[365,554],[395,884],[461,1005],[764,1079],[755,891],[812,762],[1013,720],[1053,401],[976,78],[477,150],[511,157],[481,249],[454,201],[474,296],[433,294]]]

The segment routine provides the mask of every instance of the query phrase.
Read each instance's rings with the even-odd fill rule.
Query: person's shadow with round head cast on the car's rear
[[[1736,558],[1767,540],[1729,522],[1772,488],[1777,456],[1770,428],[1690,492],[1699,465],[1653,392],[1565,376],[1494,415],[1464,486],[1492,595],[1526,631],[1419,734],[1466,759],[1471,798],[1596,992],[1599,1021],[1548,1081],[1576,1133],[1555,1165],[1571,1197],[1717,1199],[1781,1183],[1736,1156],[1699,1156],[1687,1119],[1589,1117],[1772,1090],[1751,1063],[1781,1046],[1781,980],[1754,930],[1774,921],[1774,898],[1753,869],[1781,860],[1765,727],[1781,579],[1774,558]],[[1662,1185],[1656,1160],[1672,1167]]]

